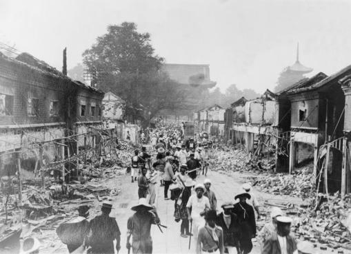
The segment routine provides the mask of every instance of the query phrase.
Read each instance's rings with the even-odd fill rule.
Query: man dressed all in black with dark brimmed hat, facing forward
[[[252,250],[252,238],[256,236],[256,220],[254,218],[254,209],[246,200],[250,199],[250,193],[242,190],[241,193],[235,196],[239,202],[234,204],[232,210],[238,216],[239,229],[240,229],[240,251],[243,254],[250,253]]]

